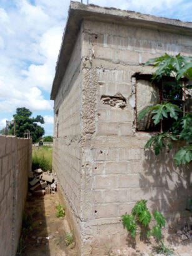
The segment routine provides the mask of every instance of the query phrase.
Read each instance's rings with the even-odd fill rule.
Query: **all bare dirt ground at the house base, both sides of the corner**
[[[22,239],[21,252],[17,255],[23,256],[75,256],[75,239],[72,244],[65,245],[65,235],[70,232],[65,217],[56,217],[56,206],[60,203],[59,194],[44,195],[39,197],[28,197],[26,212],[32,215],[32,230]],[[190,240],[182,241],[175,230],[172,234],[165,234],[165,244],[169,244],[175,251],[173,255],[192,256],[192,237]],[[106,247],[105,255],[108,256],[154,256],[153,250],[156,242],[150,239],[148,243],[142,241],[130,241],[132,246],[118,250]],[[104,255],[101,255],[104,256]]]

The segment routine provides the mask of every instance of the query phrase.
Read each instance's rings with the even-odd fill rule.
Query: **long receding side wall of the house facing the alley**
[[[54,134],[53,171],[57,172],[60,189],[64,194],[67,218],[77,237],[80,248],[81,212],[81,97],[80,73],[82,33],[79,33],[54,106],[54,132],[59,120],[59,137]],[[58,118],[57,114],[58,113]],[[80,249],[79,249],[80,250]]]

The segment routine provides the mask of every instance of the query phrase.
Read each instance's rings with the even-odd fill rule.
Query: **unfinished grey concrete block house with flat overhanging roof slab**
[[[71,2],[51,92],[53,169],[79,255],[127,245],[120,216],[137,200],[168,222],[186,216],[190,167],[175,167],[174,150],[144,151],[162,127],[150,116],[137,122],[163,100],[167,80],[151,84],[153,68],[143,64],[165,52],[192,54],[190,22]]]

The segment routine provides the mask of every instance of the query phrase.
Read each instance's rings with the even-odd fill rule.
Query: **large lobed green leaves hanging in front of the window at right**
[[[166,145],[171,149],[173,140],[185,140],[186,145],[176,152],[174,159],[177,166],[182,163],[189,163],[192,160],[192,86],[190,85],[192,57],[185,57],[180,54],[173,57],[165,54],[165,56],[150,59],[145,66],[151,64],[157,68],[152,77],[153,82],[160,81],[163,76],[175,77],[175,85],[170,90],[170,94],[175,93],[176,87],[182,87],[185,97],[188,96],[188,110],[183,110],[180,106],[171,102],[162,102],[141,111],[138,115],[138,121],[148,112],[153,115],[152,119],[155,125],[163,119],[169,119],[169,121],[175,119],[175,122],[170,122],[168,131],[152,136],[146,143],[145,149],[153,147],[155,154],[158,155]],[[188,81],[185,87],[181,84],[183,77],[186,77]]]

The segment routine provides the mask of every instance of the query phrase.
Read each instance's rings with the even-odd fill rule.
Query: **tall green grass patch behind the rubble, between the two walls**
[[[52,147],[47,145],[32,149],[32,170],[41,168],[52,172]]]

